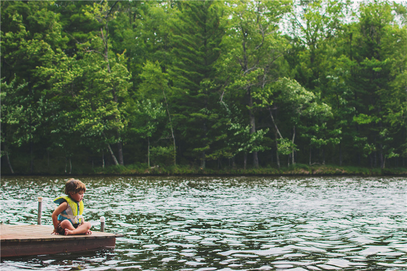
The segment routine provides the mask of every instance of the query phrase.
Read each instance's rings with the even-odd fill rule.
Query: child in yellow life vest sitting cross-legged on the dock
[[[65,194],[54,199],[56,204],[60,204],[52,213],[53,234],[92,234],[91,223],[84,222],[83,194],[86,191],[85,184],[80,180],[70,178],[65,184]]]

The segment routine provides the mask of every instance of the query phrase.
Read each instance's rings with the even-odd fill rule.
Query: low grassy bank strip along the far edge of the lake
[[[407,168],[367,168],[357,166],[336,166],[336,165],[305,165],[296,164],[289,167],[259,167],[259,168],[238,168],[224,167],[222,169],[199,168],[194,166],[154,166],[148,168],[146,165],[129,166],[108,166],[105,168],[95,168],[87,172],[76,173],[2,173],[3,176],[15,175],[134,175],[134,176],[407,176]]]

